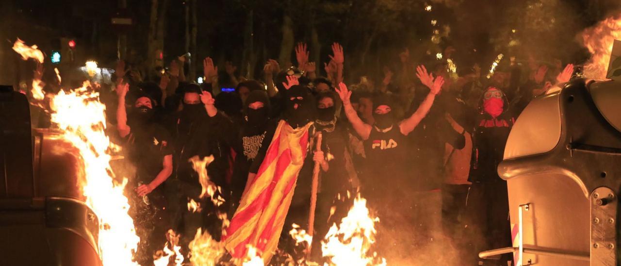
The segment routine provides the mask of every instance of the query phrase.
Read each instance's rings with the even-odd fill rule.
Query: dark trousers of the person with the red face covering
[[[509,198],[506,181],[473,183],[466,203],[468,235],[473,260],[484,250],[511,246]],[[507,265],[512,254],[505,254],[494,265]]]

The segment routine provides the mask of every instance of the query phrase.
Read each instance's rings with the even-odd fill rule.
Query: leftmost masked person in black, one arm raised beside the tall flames
[[[153,262],[153,254],[161,249],[157,243],[166,241],[165,233],[170,228],[163,183],[173,172],[173,149],[170,134],[153,122],[152,99],[139,95],[128,114],[125,107],[128,90],[127,84],[117,86],[117,131],[125,140],[130,163],[135,166],[135,175],[126,188],[129,190],[129,213],[140,237],[137,261],[149,265]]]

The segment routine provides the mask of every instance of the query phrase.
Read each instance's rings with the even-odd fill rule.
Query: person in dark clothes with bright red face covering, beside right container
[[[472,185],[466,206],[472,233],[471,254],[511,245],[507,182],[498,176],[496,169],[502,161],[514,117],[504,93],[493,86],[486,89],[479,103],[468,178]],[[505,265],[510,259],[503,256],[499,264]]]

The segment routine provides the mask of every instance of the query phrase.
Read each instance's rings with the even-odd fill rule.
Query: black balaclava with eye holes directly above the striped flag
[[[301,127],[315,119],[315,99],[307,86],[294,85],[286,90],[284,120],[293,128]],[[297,105],[297,108],[295,107]]]

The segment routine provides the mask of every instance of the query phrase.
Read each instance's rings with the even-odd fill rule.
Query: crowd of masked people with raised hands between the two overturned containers
[[[107,105],[116,106],[110,121],[116,121],[119,143],[135,166],[127,189],[141,239],[138,262],[152,263],[168,229],[181,233],[184,254],[198,228],[227,241],[234,253],[243,243],[235,240],[238,231],[258,222],[246,213],[263,196],[256,188],[262,180],[273,183],[272,198],[290,201],[274,207],[286,214],[286,229],[281,224],[272,232],[284,246],[292,223],[309,226],[315,165],[320,178],[314,236],[325,236],[360,192],[383,227],[411,228],[402,237],[379,231],[380,254],[442,238],[463,254],[463,265],[477,265],[478,252],[509,247],[507,186],[496,172],[505,142],[528,102],[568,81],[573,65],[561,69],[560,62],[511,58],[505,70],[487,78],[476,64],[458,75],[443,60],[415,66],[408,50],[399,57],[401,69],[386,69],[381,82],[350,85],[343,83],[339,44],[324,63],[325,76],[309,62],[304,44],[296,47],[297,66],[281,69],[268,60],[262,80],[238,76],[230,62],[219,71],[207,57],[202,84],[186,80],[183,58],[144,81],[145,75],[120,61],[117,99]],[[318,132],[322,142],[315,149]],[[191,162],[196,156],[213,156],[207,173],[219,190],[212,197],[224,204],[200,197]],[[265,179],[268,174],[273,179]],[[201,211],[189,210],[190,200]],[[233,217],[224,236],[217,213]],[[321,260],[321,239],[313,240],[315,261]],[[492,263],[511,259],[507,254]]]

